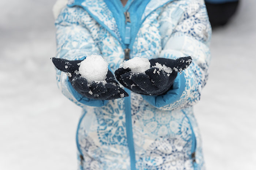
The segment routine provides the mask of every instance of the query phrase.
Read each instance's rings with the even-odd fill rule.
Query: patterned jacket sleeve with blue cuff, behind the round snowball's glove
[[[57,58],[79,60],[91,54],[100,54],[89,30],[81,22],[83,15],[86,15],[86,12],[82,8],[65,7],[57,17],[55,21]],[[68,76],[57,69],[56,79],[61,92],[80,107],[101,107],[108,102],[107,100],[89,99],[79,94],[68,81]]]

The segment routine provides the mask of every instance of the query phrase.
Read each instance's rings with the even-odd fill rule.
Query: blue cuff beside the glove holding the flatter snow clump
[[[184,73],[178,74],[173,82],[173,89],[169,90],[165,95],[160,96],[146,96],[142,95],[143,99],[155,107],[163,107],[174,103],[180,99],[182,92],[185,90]]]

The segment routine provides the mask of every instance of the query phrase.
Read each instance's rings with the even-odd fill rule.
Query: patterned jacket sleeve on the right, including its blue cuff
[[[182,74],[178,74],[173,83],[173,89],[165,95],[143,96],[144,100],[161,110],[193,106],[200,100],[202,88],[208,79],[211,25],[206,7],[203,2],[191,1],[189,4],[180,5],[180,8],[184,9],[182,17],[166,41],[159,57],[176,59],[191,56],[192,63],[182,71]]]

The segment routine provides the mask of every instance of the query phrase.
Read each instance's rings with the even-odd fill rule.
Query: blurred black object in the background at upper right
[[[239,0],[205,0],[212,27],[227,24],[237,10]]]

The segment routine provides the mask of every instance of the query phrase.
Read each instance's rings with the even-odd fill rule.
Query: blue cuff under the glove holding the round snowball
[[[108,103],[108,100],[96,100],[96,99],[89,99],[82,94],[79,94],[72,86],[71,82],[68,81],[68,91],[76,98],[76,100],[84,105],[93,106],[93,107],[101,107]]]

